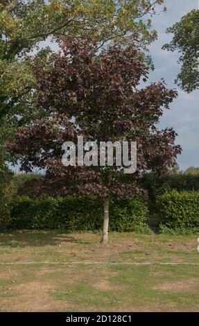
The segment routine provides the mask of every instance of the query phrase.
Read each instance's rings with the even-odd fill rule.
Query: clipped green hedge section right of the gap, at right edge
[[[157,196],[160,231],[181,233],[199,230],[199,191],[171,191]]]

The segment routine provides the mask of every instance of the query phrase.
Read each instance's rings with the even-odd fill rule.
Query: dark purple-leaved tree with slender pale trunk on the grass
[[[177,94],[162,82],[141,89],[139,83],[146,82],[147,75],[144,55],[135,46],[115,44],[96,53],[94,44],[68,40],[53,54],[53,68],[37,69],[42,92],[38,106],[47,118],[19,128],[6,145],[12,155],[21,155],[24,171],[33,166],[46,169],[45,187],[55,195],[103,199],[102,243],[107,242],[110,199],[144,194],[137,183],[141,171],[164,173],[175,166],[181,152],[173,128],[155,126]],[[137,141],[137,171],[130,178],[123,173],[124,164],[115,160],[114,166],[64,166],[62,144],[73,141],[77,147],[80,135],[96,144]]]

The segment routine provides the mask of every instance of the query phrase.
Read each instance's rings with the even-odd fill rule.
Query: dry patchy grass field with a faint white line
[[[196,236],[0,236],[0,311],[199,311]]]

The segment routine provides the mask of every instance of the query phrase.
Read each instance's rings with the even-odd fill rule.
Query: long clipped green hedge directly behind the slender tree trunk
[[[102,228],[103,203],[96,198],[19,197],[6,207],[0,227],[12,229],[64,229],[94,231]],[[3,209],[5,212],[5,207]],[[110,203],[110,230],[132,232],[146,229],[148,205],[144,200],[119,200]]]

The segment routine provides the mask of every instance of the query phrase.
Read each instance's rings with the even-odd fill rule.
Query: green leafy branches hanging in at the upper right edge
[[[184,91],[192,92],[199,88],[199,10],[192,10],[166,32],[173,33],[173,39],[163,49],[180,53],[178,63],[182,67],[175,83]]]

